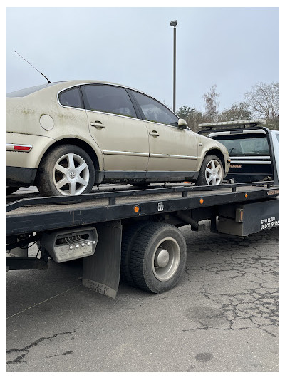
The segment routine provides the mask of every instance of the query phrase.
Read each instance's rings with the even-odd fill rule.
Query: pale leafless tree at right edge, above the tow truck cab
[[[257,118],[276,120],[279,118],[279,82],[257,83],[244,94],[249,109]]]

